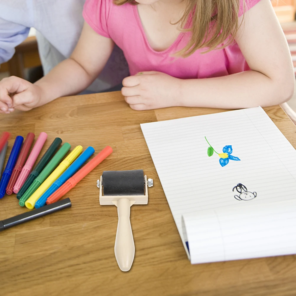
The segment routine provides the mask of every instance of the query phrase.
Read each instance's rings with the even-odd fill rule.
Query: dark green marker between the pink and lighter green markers
[[[62,139],[55,138],[52,144],[49,146],[49,148],[46,150],[46,152],[42,156],[41,160],[36,165],[35,169],[30,173],[27,180],[20,188],[20,191],[17,192],[17,199],[20,199],[23,196],[23,194],[28,190],[30,185],[38,177],[40,172],[44,169],[44,167],[47,165],[49,160],[52,158],[52,155],[54,155],[54,152],[57,150],[60,144],[62,144]]]

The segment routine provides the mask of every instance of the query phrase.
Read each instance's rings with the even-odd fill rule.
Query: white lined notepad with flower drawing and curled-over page
[[[141,128],[191,263],[296,253],[296,151],[261,107]]]

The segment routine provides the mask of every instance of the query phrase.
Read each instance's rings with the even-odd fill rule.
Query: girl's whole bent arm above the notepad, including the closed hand
[[[289,47],[269,0],[245,13],[236,41],[251,71],[181,80],[159,72],[125,78],[122,90],[136,110],[168,106],[245,108],[289,100],[294,69]]]

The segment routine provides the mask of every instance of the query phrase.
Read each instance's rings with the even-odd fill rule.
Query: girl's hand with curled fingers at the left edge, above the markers
[[[0,113],[31,110],[40,98],[41,89],[22,78],[11,76],[0,81]]]

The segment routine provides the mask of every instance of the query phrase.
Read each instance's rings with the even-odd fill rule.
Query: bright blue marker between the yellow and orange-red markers
[[[36,209],[43,207],[48,197],[50,197],[60,186],[62,186],[70,177],[76,173],[76,171],[86,162],[86,160],[94,154],[94,148],[89,146],[65,172],[56,180],[44,194],[39,197],[35,203]]]

